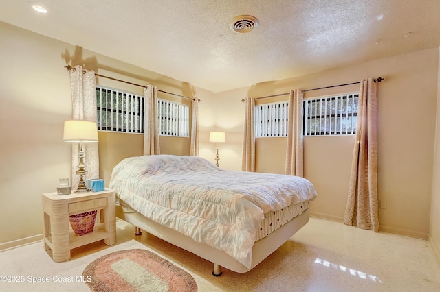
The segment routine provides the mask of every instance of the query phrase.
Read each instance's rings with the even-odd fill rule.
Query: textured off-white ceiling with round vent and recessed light
[[[32,3],[49,12],[35,12]],[[0,21],[213,92],[440,44],[438,0],[2,0],[1,4]],[[255,16],[259,27],[248,34],[232,32],[229,23],[241,14]]]

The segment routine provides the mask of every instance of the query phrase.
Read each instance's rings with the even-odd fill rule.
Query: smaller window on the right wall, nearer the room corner
[[[287,136],[289,101],[261,104],[254,110],[255,137]]]

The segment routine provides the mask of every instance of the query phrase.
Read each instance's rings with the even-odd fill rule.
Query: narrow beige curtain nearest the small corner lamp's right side
[[[246,97],[243,154],[241,156],[242,171],[255,171],[254,108],[254,99],[252,97]]]

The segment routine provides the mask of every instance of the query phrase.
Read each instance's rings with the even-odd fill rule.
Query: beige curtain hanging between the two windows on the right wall
[[[287,125],[287,152],[285,173],[304,175],[303,151],[303,91],[291,90]]]

